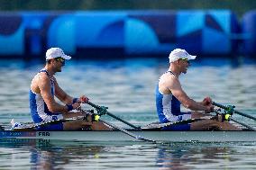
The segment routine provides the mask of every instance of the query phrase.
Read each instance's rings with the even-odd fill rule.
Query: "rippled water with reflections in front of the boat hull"
[[[255,143],[2,142],[0,169],[255,169]]]

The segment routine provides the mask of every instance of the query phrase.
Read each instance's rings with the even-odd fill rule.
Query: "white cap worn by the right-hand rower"
[[[192,56],[187,53],[185,49],[174,49],[169,53],[169,63],[177,61],[178,59],[195,59],[197,56]]]

